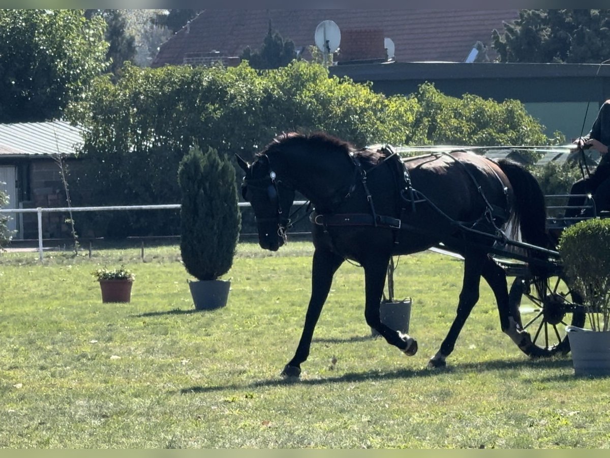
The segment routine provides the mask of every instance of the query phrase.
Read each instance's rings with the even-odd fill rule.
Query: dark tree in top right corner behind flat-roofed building
[[[597,64],[610,57],[610,10],[520,10],[492,41],[500,62]]]

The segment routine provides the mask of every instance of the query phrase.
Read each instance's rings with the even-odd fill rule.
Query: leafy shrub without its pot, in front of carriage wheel
[[[571,286],[584,297],[589,324],[610,329],[610,219],[589,219],[566,228],[559,253]]]

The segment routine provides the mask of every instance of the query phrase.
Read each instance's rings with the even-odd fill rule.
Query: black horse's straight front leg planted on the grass
[[[314,336],[315,325],[320,318],[328,292],[331,290],[332,277],[342,263],[343,258],[330,250],[315,249],[311,275],[311,297],[305,315],[303,333],[301,333],[301,340],[296,347],[295,355],[284,367],[282,376],[298,377],[301,375],[301,363],[307,360],[309,356],[309,347]]]

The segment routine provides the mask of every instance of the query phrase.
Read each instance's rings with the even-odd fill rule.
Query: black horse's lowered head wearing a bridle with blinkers
[[[237,163],[246,172],[242,197],[254,210],[260,247],[277,251],[286,241],[286,228],[290,223],[289,211],[295,200],[295,190],[276,175],[265,154],[251,165],[237,156]]]

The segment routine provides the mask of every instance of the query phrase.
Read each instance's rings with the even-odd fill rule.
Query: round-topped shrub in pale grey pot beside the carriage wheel
[[[566,228],[559,239],[564,272],[583,297],[587,329],[568,326],[576,375],[610,374],[610,219]]]

